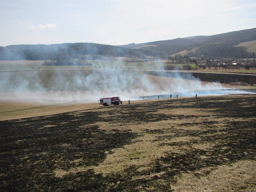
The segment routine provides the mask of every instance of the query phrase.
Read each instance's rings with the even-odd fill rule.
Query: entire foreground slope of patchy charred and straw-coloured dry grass
[[[0,121],[0,190],[254,191],[255,117],[253,94]]]

